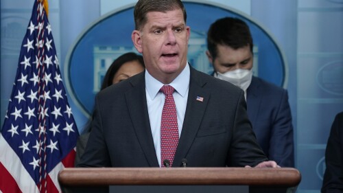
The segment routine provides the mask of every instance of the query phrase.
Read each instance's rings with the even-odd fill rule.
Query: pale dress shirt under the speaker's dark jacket
[[[173,97],[176,105],[176,114],[178,116],[178,137],[180,138],[183,120],[187,106],[189,91],[190,70],[187,63],[185,69],[169,85],[174,87]],[[159,82],[145,70],[145,92],[147,96],[147,111],[149,112],[152,138],[158,164],[161,167],[161,117],[163,105],[165,104],[165,95],[160,91],[164,84]]]

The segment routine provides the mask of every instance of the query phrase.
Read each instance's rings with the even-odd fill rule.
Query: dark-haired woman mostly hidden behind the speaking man
[[[102,81],[102,88],[106,89],[112,84],[116,84],[123,80],[130,78],[131,76],[136,75],[144,71],[145,65],[143,61],[143,56],[135,54],[133,52],[128,52],[119,56],[113,61],[108,70],[104,80]],[[75,156],[75,166],[80,161],[82,155],[84,154],[84,148],[88,141],[89,133],[91,133],[91,120],[86,124],[84,133],[80,135],[78,142],[76,144],[76,156]]]

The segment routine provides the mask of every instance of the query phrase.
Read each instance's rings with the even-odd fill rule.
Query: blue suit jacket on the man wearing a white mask
[[[248,117],[268,159],[281,167],[294,167],[292,115],[287,91],[252,77],[247,90]]]

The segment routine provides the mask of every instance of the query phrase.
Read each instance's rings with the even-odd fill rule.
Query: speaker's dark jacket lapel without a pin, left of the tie
[[[138,87],[138,89],[130,89],[130,91],[126,93],[126,102],[128,104],[128,111],[130,112],[132,124],[150,167],[158,167],[154,140],[152,139],[150,128],[149,114],[147,112],[144,72],[140,73],[137,77],[132,78],[130,83],[132,84],[132,87]]]

